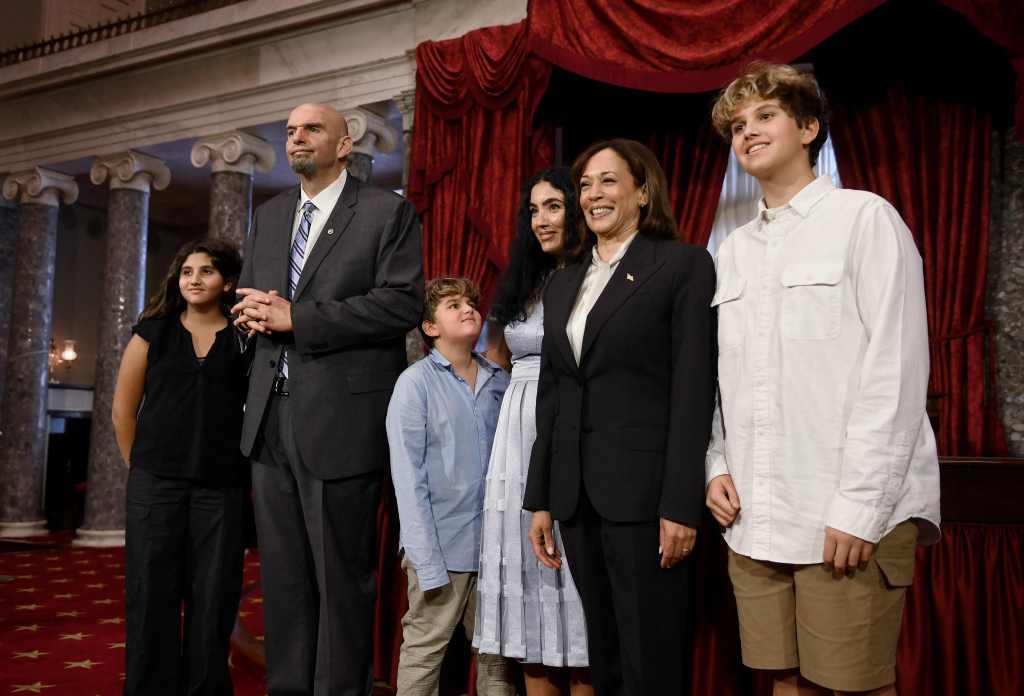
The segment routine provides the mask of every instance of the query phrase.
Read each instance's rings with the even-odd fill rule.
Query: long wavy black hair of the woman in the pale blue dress
[[[580,246],[580,206],[568,168],[552,167],[538,172],[522,186],[516,215],[516,234],[509,249],[509,265],[498,280],[498,291],[490,309],[490,320],[502,327],[526,319],[529,306],[541,297],[545,278],[562,261],[562,258],[544,253],[530,225],[529,195],[534,186],[541,181],[547,181],[565,197],[563,249],[573,250]]]

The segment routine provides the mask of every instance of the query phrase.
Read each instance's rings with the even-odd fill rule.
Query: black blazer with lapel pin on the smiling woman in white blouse
[[[565,327],[590,254],[544,295],[537,441],[523,498],[557,520],[581,484],[601,517],[696,526],[715,406],[715,265],[699,247],[637,235],[587,317],[580,365]]]

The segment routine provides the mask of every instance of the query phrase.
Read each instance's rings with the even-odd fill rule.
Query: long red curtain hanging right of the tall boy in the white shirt
[[[855,69],[848,56],[866,32],[838,37],[823,47],[816,66],[831,102],[843,185],[892,203],[924,257],[929,392],[939,408],[939,452],[1000,455],[1007,451],[1006,436],[986,374],[985,321],[998,90],[977,80],[980,74],[998,73],[986,61],[995,58],[985,55],[982,40],[972,37],[957,15],[935,11],[929,32],[909,37],[905,28],[912,16],[895,5],[886,8],[888,21],[874,23],[871,36],[890,48],[864,56]],[[964,53],[948,59],[935,53],[937,45],[951,42]],[[853,70],[874,78],[855,80]],[[957,89],[949,89],[952,84]]]

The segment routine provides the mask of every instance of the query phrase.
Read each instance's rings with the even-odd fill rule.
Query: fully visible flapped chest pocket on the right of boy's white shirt
[[[841,261],[801,261],[783,268],[782,338],[822,340],[839,336],[842,280]]]

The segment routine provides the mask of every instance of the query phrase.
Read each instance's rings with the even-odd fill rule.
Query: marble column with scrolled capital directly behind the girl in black
[[[128,467],[118,449],[111,421],[114,387],[131,327],[142,311],[150,189],[162,190],[171,173],[162,161],[129,150],[96,158],[92,183],[110,179],[106,203],[106,253],[96,336],[96,381],[89,430],[85,520],[73,541],[80,547],[124,545],[125,484]]]

